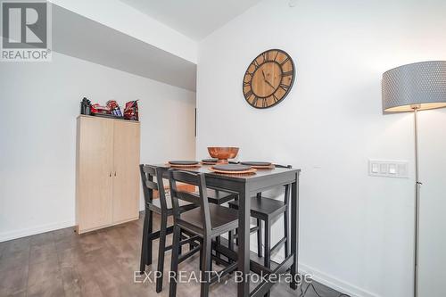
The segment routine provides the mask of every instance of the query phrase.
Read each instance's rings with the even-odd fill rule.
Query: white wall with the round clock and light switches
[[[368,159],[413,167],[412,116],[382,114],[381,76],[446,60],[444,15],[442,0],[265,0],[199,45],[197,158],[237,145],[239,160],[301,168],[301,269],[352,295],[412,293],[413,172],[368,177]],[[257,110],[242,80],[269,48],[291,54],[297,77],[283,103]],[[420,115],[423,297],[446,295],[445,125],[445,110]]]

